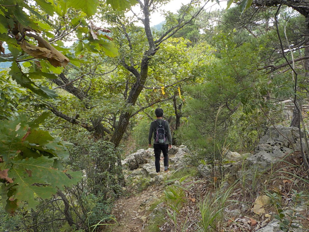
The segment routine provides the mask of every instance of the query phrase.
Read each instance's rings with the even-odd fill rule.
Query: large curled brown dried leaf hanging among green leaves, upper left
[[[29,44],[26,40],[19,42],[21,49],[27,54],[36,58],[47,59],[54,67],[65,67],[70,61],[42,37],[32,34],[27,34],[27,36],[38,41],[38,46]]]

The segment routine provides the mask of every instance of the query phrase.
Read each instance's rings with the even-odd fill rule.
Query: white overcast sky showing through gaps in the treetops
[[[171,11],[173,13],[176,13],[177,10],[180,9],[180,7],[182,6],[182,4],[186,5],[190,2],[190,0],[171,0],[169,3],[165,4],[164,6],[162,6],[160,9],[164,9],[165,11]],[[220,6],[214,1],[214,2],[208,2],[205,6],[205,9],[207,12],[209,11],[213,11],[216,9],[225,9],[226,8],[226,2],[227,1],[220,1]],[[160,10],[159,9],[159,10]],[[139,5],[135,5],[131,8],[131,10],[136,13],[136,14],[141,14],[141,10]],[[133,16],[133,13],[131,11],[129,11],[127,13],[130,16]],[[150,26],[155,26],[159,23],[161,23],[162,21],[164,21],[164,16],[161,15],[161,12],[155,12],[152,13],[150,15]],[[139,22],[138,24],[139,26],[143,26],[141,22]]]

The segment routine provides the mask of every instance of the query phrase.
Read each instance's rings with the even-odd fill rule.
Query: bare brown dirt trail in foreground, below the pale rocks
[[[149,206],[163,193],[162,187],[149,187],[139,195],[122,198],[115,202],[112,214],[115,215],[118,225],[112,228],[112,232],[142,232],[145,231],[146,217],[149,212],[143,206],[147,201]],[[144,220],[143,220],[144,219]]]

